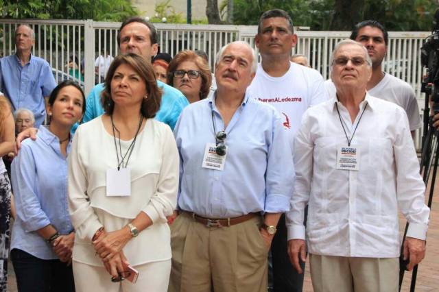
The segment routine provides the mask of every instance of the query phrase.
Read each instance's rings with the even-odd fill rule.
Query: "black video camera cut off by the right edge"
[[[421,92],[427,93],[433,103],[434,114],[439,113],[439,9],[434,14],[431,36],[420,49],[420,62],[427,67],[427,75],[423,79]]]

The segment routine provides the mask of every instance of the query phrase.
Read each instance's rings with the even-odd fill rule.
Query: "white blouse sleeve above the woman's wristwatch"
[[[142,209],[152,222],[166,222],[166,217],[171,215],[176,208],[179,178],[179,156],[169,127],[164,128],[162,165],[157,183],[157,192],[151,197],[150,202]]]

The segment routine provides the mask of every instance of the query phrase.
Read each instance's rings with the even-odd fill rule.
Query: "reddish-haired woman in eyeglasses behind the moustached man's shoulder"
[[[194,51],[180,51],[169,63],[168,84],[180,90],[190,104],[209,95],[212,74],[204,58]]]

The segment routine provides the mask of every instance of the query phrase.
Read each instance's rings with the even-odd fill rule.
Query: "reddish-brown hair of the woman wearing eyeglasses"
[[[198,56],[197,53],[189,49],[180,51],[169,63],[169,67],[167,68],[167,84],[174,86],[174,72],[177,70],[178,65],[185,61],[194,62],[200,69],[200,99],[205,99],[207,95],[209,95],[212,85],[212,74],[209,70],[209,64],[207,64],[207,61],[204,58]]]

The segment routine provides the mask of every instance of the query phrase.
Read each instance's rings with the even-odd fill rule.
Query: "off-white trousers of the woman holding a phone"
[[[86,265],[73,260],[73,276],[76,292],[166,292],[171,273],[171,260],[135,266],[139,271],[137,282],[128,280],[111,282],[105,267]]]

